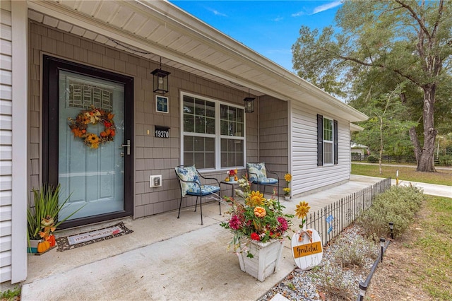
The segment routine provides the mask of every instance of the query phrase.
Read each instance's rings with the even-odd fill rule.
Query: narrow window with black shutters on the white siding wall
[[[317,114],[317,166],[338,164],[338,121]]]

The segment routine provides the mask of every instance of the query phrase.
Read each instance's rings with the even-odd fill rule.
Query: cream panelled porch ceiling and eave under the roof
[[[168,1],[28,0],[31,20],[257,96],[304,102],[351,122],[367,119],[294,73]]]

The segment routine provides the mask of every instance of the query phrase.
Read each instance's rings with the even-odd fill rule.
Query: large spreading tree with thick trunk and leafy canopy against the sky
[[[390,93],[408,81],[400,100],[407,117],[422,121],[421,134],[410,129],[417,170],[434,172],[436,93],[452,69],[452,2],[345,1],[335,21],[340,33],[302,26],[292,46],[294,69],[342,97],[346,91],[364,99],[379,81],[387,88],[380,92]],[[367,84],[357,90],[363,77]]]

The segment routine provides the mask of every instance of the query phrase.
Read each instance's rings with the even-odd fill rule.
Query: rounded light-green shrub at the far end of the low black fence
[[[423,199],[422,189],[415,186],[398,187],[376,196],[369,208],[358,220],[367,237],[388,237],[389,222],[394,223],[393,235],[399,237],[405,232],[419,211]]]

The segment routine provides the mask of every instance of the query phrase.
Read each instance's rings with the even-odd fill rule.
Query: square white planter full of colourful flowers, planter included
[[[239,179],[236,198],[226,197],[230,205],[227,221],[220,223],[232,232],[229,247],[239,256],[242,271],[259,281],[278,268],[283,251],[283,240],[292,225],[292,215],[283,213],[282,206],[273,195],[265,199],[260,191],[251,191],[246,178]],[[229,249],[228,247],[228,249]]]

